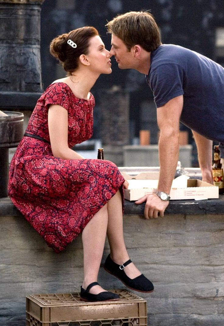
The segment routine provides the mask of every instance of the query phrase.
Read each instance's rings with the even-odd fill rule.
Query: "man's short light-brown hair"
[[[105,26],[108,33],[119,37],[129,51],[136,44],[147,52],[161,45],[159,27],[148,11],[130,11],[118,15]]]

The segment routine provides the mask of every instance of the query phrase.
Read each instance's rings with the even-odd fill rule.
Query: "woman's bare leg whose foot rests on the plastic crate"
[[[106,229],[108,222],[107,204],[103,206],[89,221],[82,231],[83,256],[84,256],[84,281],[83,289],[92,282],[97,282],[100,263],[103,255]],[[90,289],[90,293],[98,294],[102,291],[99,285]]]

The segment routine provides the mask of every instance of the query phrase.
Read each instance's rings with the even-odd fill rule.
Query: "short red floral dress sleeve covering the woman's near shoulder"
[[[45,106],[50,104],[61,105],[65,110],[69,109],[68,85],[62,82],[53,83],[45,91]]]

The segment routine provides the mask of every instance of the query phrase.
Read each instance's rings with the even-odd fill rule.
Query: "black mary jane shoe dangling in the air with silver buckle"
[[[116,264],[111,258],[110,255],[108,255],[105,264],[104,269],[108,273],[116,276],[121,282],[124,283],[128,288],[138,291],[138,292],[152,292],[154,290],[154,286],[151,281],[149,281],[146,276],[143,274],[135,277],[130,278],[128,277],[125,272],[124,268],[128,264],[130,264],[132,261],[129,259],[122,265]]]

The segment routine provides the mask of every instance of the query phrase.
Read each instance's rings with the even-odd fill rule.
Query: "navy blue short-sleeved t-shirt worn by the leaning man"
[[[156,107],[183,95],[180,121],[213,141],[224,142],[224,68],[178,45],[151,52],[147,82]]]

